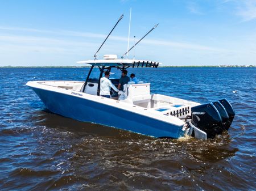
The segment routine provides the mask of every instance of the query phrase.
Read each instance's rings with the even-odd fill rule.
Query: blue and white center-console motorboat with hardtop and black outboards
[[[192,135],[206,139],[228,130],[234,110],[225,99],[201,105],[176,97],[151,94],[150,83],[144,82],[126,84],[118,96],[113,95],[110,99],[100,96],[100,78],[104,71],[114,73],[110,77],[115,78],[110,80],[117,86],[122,70],[159,66],[159,62],[112,57],[78,62],[92,65],[85,82],[31,81],[27,82],[27,86],[53,113],[152,137]]]

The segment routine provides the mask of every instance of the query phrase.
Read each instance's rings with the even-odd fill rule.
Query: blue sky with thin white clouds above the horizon
[[[81,66],[98,53],[171,66],[256,65],[256,0],[0,0],[0,66]]]

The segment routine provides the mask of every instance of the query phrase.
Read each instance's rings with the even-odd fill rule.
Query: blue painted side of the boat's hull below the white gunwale
[[[39,88],[32,89],[49,111],[64,117],[85,122],[95,122],[152,137],[179,138],[183,136],[183,126],[175,126],[141,114],[72,95]]]

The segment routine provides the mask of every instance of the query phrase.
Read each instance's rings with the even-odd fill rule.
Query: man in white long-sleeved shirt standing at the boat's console
[[[114,91],[118,92],[118,89],[109,80],[109,71],[105,71],[105,77],[101,78],[100,95],[103,97],[110,98],[110,89],[113,88]]]

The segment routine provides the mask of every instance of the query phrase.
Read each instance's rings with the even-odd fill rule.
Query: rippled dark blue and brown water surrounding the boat
[[[152,92],[236,110],[215,139],[154,139],[53,114],[28,80],[89,69],[0,69],[1,190],[255,190],[256,69],[133,69]],[[234,91],[234,92],[233,92]]]

